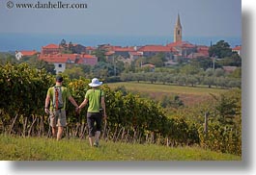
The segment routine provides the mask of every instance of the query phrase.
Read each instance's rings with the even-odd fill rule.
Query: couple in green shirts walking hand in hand
[[[97,78],[92,80],[89,84],[92,89],[86,91],[84,101],[80,106],[78,106],[72,98],[70,90],[67,87],[63,87],[62,84],[63,77],[57,76],[56,85],[48,88],[45,98],[44,112],[49,114],[53,137],[57,137],[57,140],[62,137],[63,129],[67,124],[66,106],[68,100],[70,100],[71,104],[75,107],[75,112],[80,112],[82,108],[89,103],[87,110],[89,142],[91,146],[99,146],[102,123],[100,106],[103,112],[103,119],[106,119],[104,92],[99,88],[102,82]]]

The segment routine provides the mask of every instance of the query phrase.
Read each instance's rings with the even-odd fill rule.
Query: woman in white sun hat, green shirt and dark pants
[[[100,131],[101,131],[101,122],[102,116],[100,115],[100,105],[103,110],[103,118],[106,119],[105,112],[105,101],[104,101],[104,92],[99,89],[102,85],[102,82],[99,79],[94,78],[92,82],[89,84],[92,89],[87,90],[85,94],[85,99],[78,107],[80,111],[83,107],[89,103],[89,107],[87,110],[87,124],[89,127],[89,142],[91,146],[99,146],[100,141]],[[95,122],[96,122],[96,130],[95,130]],[[95,141],[94,141],[95,137]]]

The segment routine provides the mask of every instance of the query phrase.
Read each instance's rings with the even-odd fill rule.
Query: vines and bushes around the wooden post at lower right
[[[195,124],[202,147],[242,155],[241,89],[213,95],[209,104],[179,112],[188,125]],[[204,105],[204,106],[203,106]],[[209,112],[208,133],[205,133],[204,113]],[[201,114],[200,114],[201,113]]]

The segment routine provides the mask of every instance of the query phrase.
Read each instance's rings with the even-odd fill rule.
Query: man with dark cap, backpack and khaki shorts
[[[71,104],[76,107],[78,111],[78,105],[71,96],[71,92],[67,87],[62,87],[63,77],[56,77],[56,85],[49,87],[45,98],[44,112],[50,115],[50,126],[52,128],[53,137],[57,137],[57,140],[61,139],[63,129],[67,125],[66,119],[66,105],[67,99],[71,101]],[[49,107],[50,103],[50,108]]]

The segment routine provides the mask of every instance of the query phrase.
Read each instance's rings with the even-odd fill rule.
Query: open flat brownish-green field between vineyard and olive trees
[[[209,88],[209,87],[181,87],[149,83],[111,83],[107,84],[110,88],[126,87],[129,91],[140,93],[143,96],[151,97],[152,99],[160,100],[164,95],[172,96],[179,95],[185,106],[200,104],[203,101],[211,98],[212,94],[219,94],[228,89]]]

